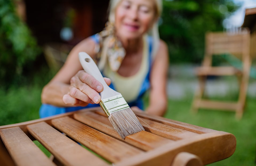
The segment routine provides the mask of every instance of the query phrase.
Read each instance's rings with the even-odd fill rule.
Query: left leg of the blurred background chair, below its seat
[[[198,112],[199,109],[199,102],[203,97],[204,91],[205,91],[205,83],[206,83],[206,76],[199,76],[198,77],[199,87],[197,91],[195,92],[191,111],[194,113]]]

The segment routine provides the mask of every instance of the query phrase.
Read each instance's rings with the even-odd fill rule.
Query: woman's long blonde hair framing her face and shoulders
[[[117,6],[119,5],[119,3],[121,3],[122,1],[123,0],[110,0],[109,8],[108,8],[108,12],[109,12],[108,21],[110,23],[115,22],[115,10],[116,10]],[[159,47],[158,19],[161,16],[161,13],[162,13],[162,0],[153,0],[153,1],[155,2],[155,22],[153,23],[153,26],[151,27],[151,29],[149,29],[147,34],[152,36],[152,38],[153,38],[152,55],[154,57],[157,50],[158,50],[158,47]],[[100,70],[103,69],[103,67],[105,66],[105,63],[106,63],[107,48],[106,48],[105,44],[108,43],[108,42],[109,42],[108,38],[106,38],[103,42],[103,48],[102,48],[102,52],[101,52],[101,59],[98,63],[98,67],[99,67]]]

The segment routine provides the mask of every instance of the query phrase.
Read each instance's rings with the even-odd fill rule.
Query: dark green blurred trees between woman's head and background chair
[[[170,62],[201,62],[205,32],[222,31],[222,21],[237,8],[232,0],[164,0],[159,32]]]

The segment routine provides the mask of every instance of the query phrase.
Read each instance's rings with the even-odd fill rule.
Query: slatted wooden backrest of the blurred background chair
[[[242,63],[250,59],[250,33],[208,32],[205,36],[203,66],[211,66],[213,55],[229,54]]]

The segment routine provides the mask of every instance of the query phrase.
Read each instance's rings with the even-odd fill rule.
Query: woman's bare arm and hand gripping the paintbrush
[[[88,103],[100,101],[98,92],[102,91],[103,86],[82,70],[78,57],[79,52],[86,52],[94,58],[94,48],[95,42],[91,38],[87,38],[71,50],[63,67],[43,88],[42,103],[70,107],[86,106]],[[110,82],[109,79],[106,81]],[[98,100],[92,101],[92,99],[96,99],[95,97],[98,97]]]

